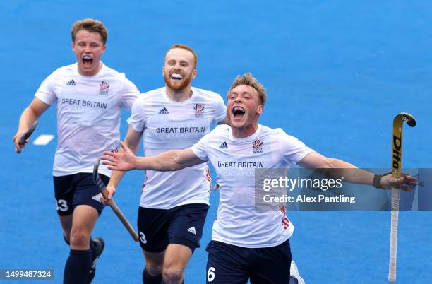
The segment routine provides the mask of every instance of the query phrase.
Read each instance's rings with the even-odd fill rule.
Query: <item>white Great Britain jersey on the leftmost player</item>
[[[102,64],[102,63],[101,63]],[[139,91],[124,73],[102,64],[94,76],[78,73],[77,64],[61,67],[40,85],[35,97],[57,102],[59,144],[54,176],[92,172],[104,151],[116,149],[120,139],[121,107],[131,110]],[[111,176],[100,166],[100,173]]]

